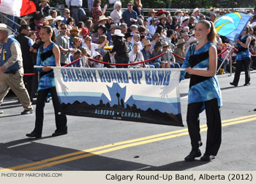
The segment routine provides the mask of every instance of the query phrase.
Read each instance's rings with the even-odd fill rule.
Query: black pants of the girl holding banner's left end
[[[53,107],[54,107],[55,122],[56,122],[55,132],[67,132],[67,117],[66,115],[58,114],[58,112],[61,112],[61,104],[59,103],[59,98],[57,96],[56,88],[48,88],[48,89],[38,91],[37,107],[36,107],[36,123],[34,127],[34,132],[36,132],[37,134],[42,134],[45,99],[49,92],[52,94],[52,98],[53,98]]]

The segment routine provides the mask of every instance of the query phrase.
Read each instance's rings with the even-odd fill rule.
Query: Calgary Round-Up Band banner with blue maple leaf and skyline
[[[54,67],[66,115],[183,126],[180,69]]]

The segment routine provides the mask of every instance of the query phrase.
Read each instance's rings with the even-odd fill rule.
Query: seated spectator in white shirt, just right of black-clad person
[[[129,64],[138,63],[140,61],[144,61],[143,54],[140,52],[138,43],[135,43],[132,45],[132,51],[129,52]],[[143,64],[132,65],[131,67],[140,68],[143,67]]]

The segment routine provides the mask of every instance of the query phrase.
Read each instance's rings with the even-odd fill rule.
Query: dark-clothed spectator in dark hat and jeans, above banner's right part
[[[161,53],[162,53],[162,42],[159,41],[154,45],[152,58],[156,57],[157,55],[160,55]],[[149,61],[148,64],[153,64],[155,68],[160,68],[160,67],[165,68],[165,64],[164,64],[164,60],[162,59],[162,56]]]

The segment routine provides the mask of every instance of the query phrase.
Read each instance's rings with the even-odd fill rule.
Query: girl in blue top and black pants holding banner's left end
[[[67,134],[67,117],[66,115],[59,115],[59,112],[61,112],[61,104],[59,103],[59,98],[56,93],[53,69],[50,67],[61,66],[59,47],[50,40],[53,36],[53,29],[50,28],[50,26],[42,26],[40,36],[42,42],[45,43],[39,47],[37,53],[37,66],[42,66],[42,68],[37,68],[40,72],[40,80],[37,89],[36,122],[34,130],[31,131],[30,134],[26,134],[27,137],[36,138],[42,137],[45,99],[49,92],[52,94],[56,120],[56,131],[52,136]]]

